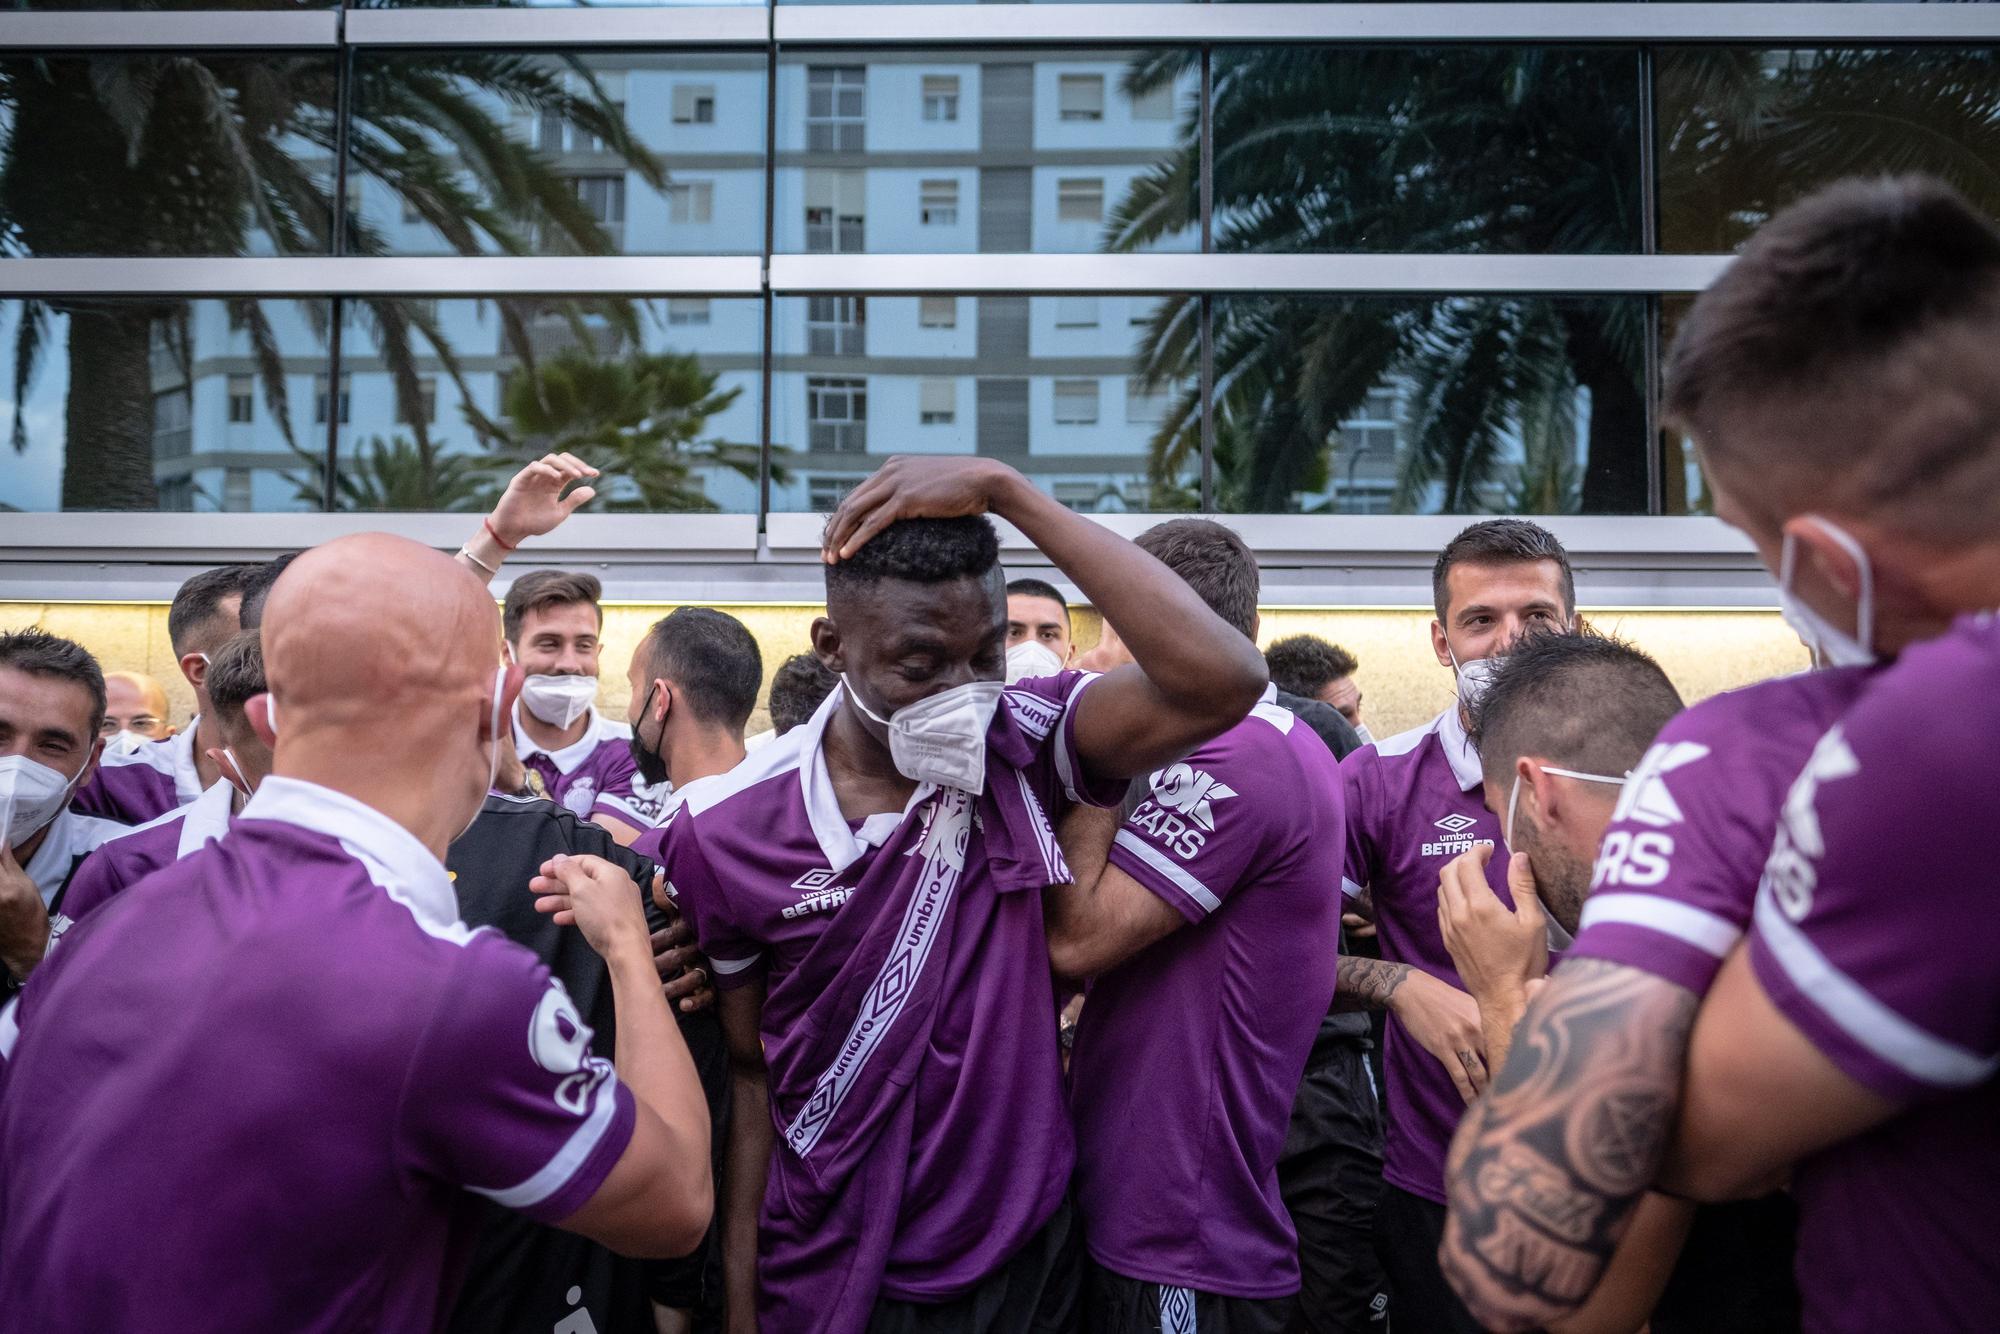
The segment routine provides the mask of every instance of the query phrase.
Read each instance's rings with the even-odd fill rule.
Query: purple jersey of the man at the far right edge
[[[2000,1320],[2000,620],[1902,654],[1812,748],[1758,884],[1750,966],[1904,1108],[1798,1166],[1812,1330]]]

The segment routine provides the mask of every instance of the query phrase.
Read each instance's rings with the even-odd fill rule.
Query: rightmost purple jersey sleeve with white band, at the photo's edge
[[[1940,720],[1922,678],[1882,680],[1786,798],[1750,964],[1828,1060],[1910,1104],[2000,1070],[2000,912],[1968,844],[2000,810],[2000,714]]]

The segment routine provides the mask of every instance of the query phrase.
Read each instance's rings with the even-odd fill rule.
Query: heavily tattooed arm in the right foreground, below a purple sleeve
[[[1638,968],[1566,962],[1528,1006],[1444,1166],[1438,1260],[1492,1330],[1578,1310],[1666,1154],[1696,998]]]

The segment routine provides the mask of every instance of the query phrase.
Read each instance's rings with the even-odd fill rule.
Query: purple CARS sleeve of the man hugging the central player
[[[1150,794],[1112,840],[1112,866],[1188,922],[1220,908],[1250,868],[1282,852],[1280,834],[1294,812],[1296,792],[1292,800],[1284,792],[1286,756],[1246,748],[1242,728],[1218,742],[1156,772]]]

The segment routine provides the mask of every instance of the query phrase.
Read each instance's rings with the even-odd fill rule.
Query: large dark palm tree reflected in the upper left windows
[[[560,56],[446,52],[352,64],[350,132],[340,134],[340,62],[322,54],[82,56],[0,60],[0,254],[382,254],[386,238],[356,210],[336,208],[332,162],[388,184],[460,252],[610,250],[574,186],[494,108],[552,116],[596,136],[648,184],[664,170],[626,130],[590,70]],[[402,416],[420,414],[422,340],[448,376],[458,360],[422,302],[364,298]],[[326,304],[304,304],[318,334]],[[624,302],[606,310],[632,324]],[[510,348],[532,362],[526,324],[500,304]],[[180,328],[172,300],[24,302],[14,398],[34,376],[52,314],[68,316],[72,392],[66,402],[64,508],[154,508],[154,328]],[[270,414],[292,440],[282,356],[258,302],[234,302],[250,332]],[[426,448],[418,424],[416,446]],[[12,438],[26,446],[20,408]]]

